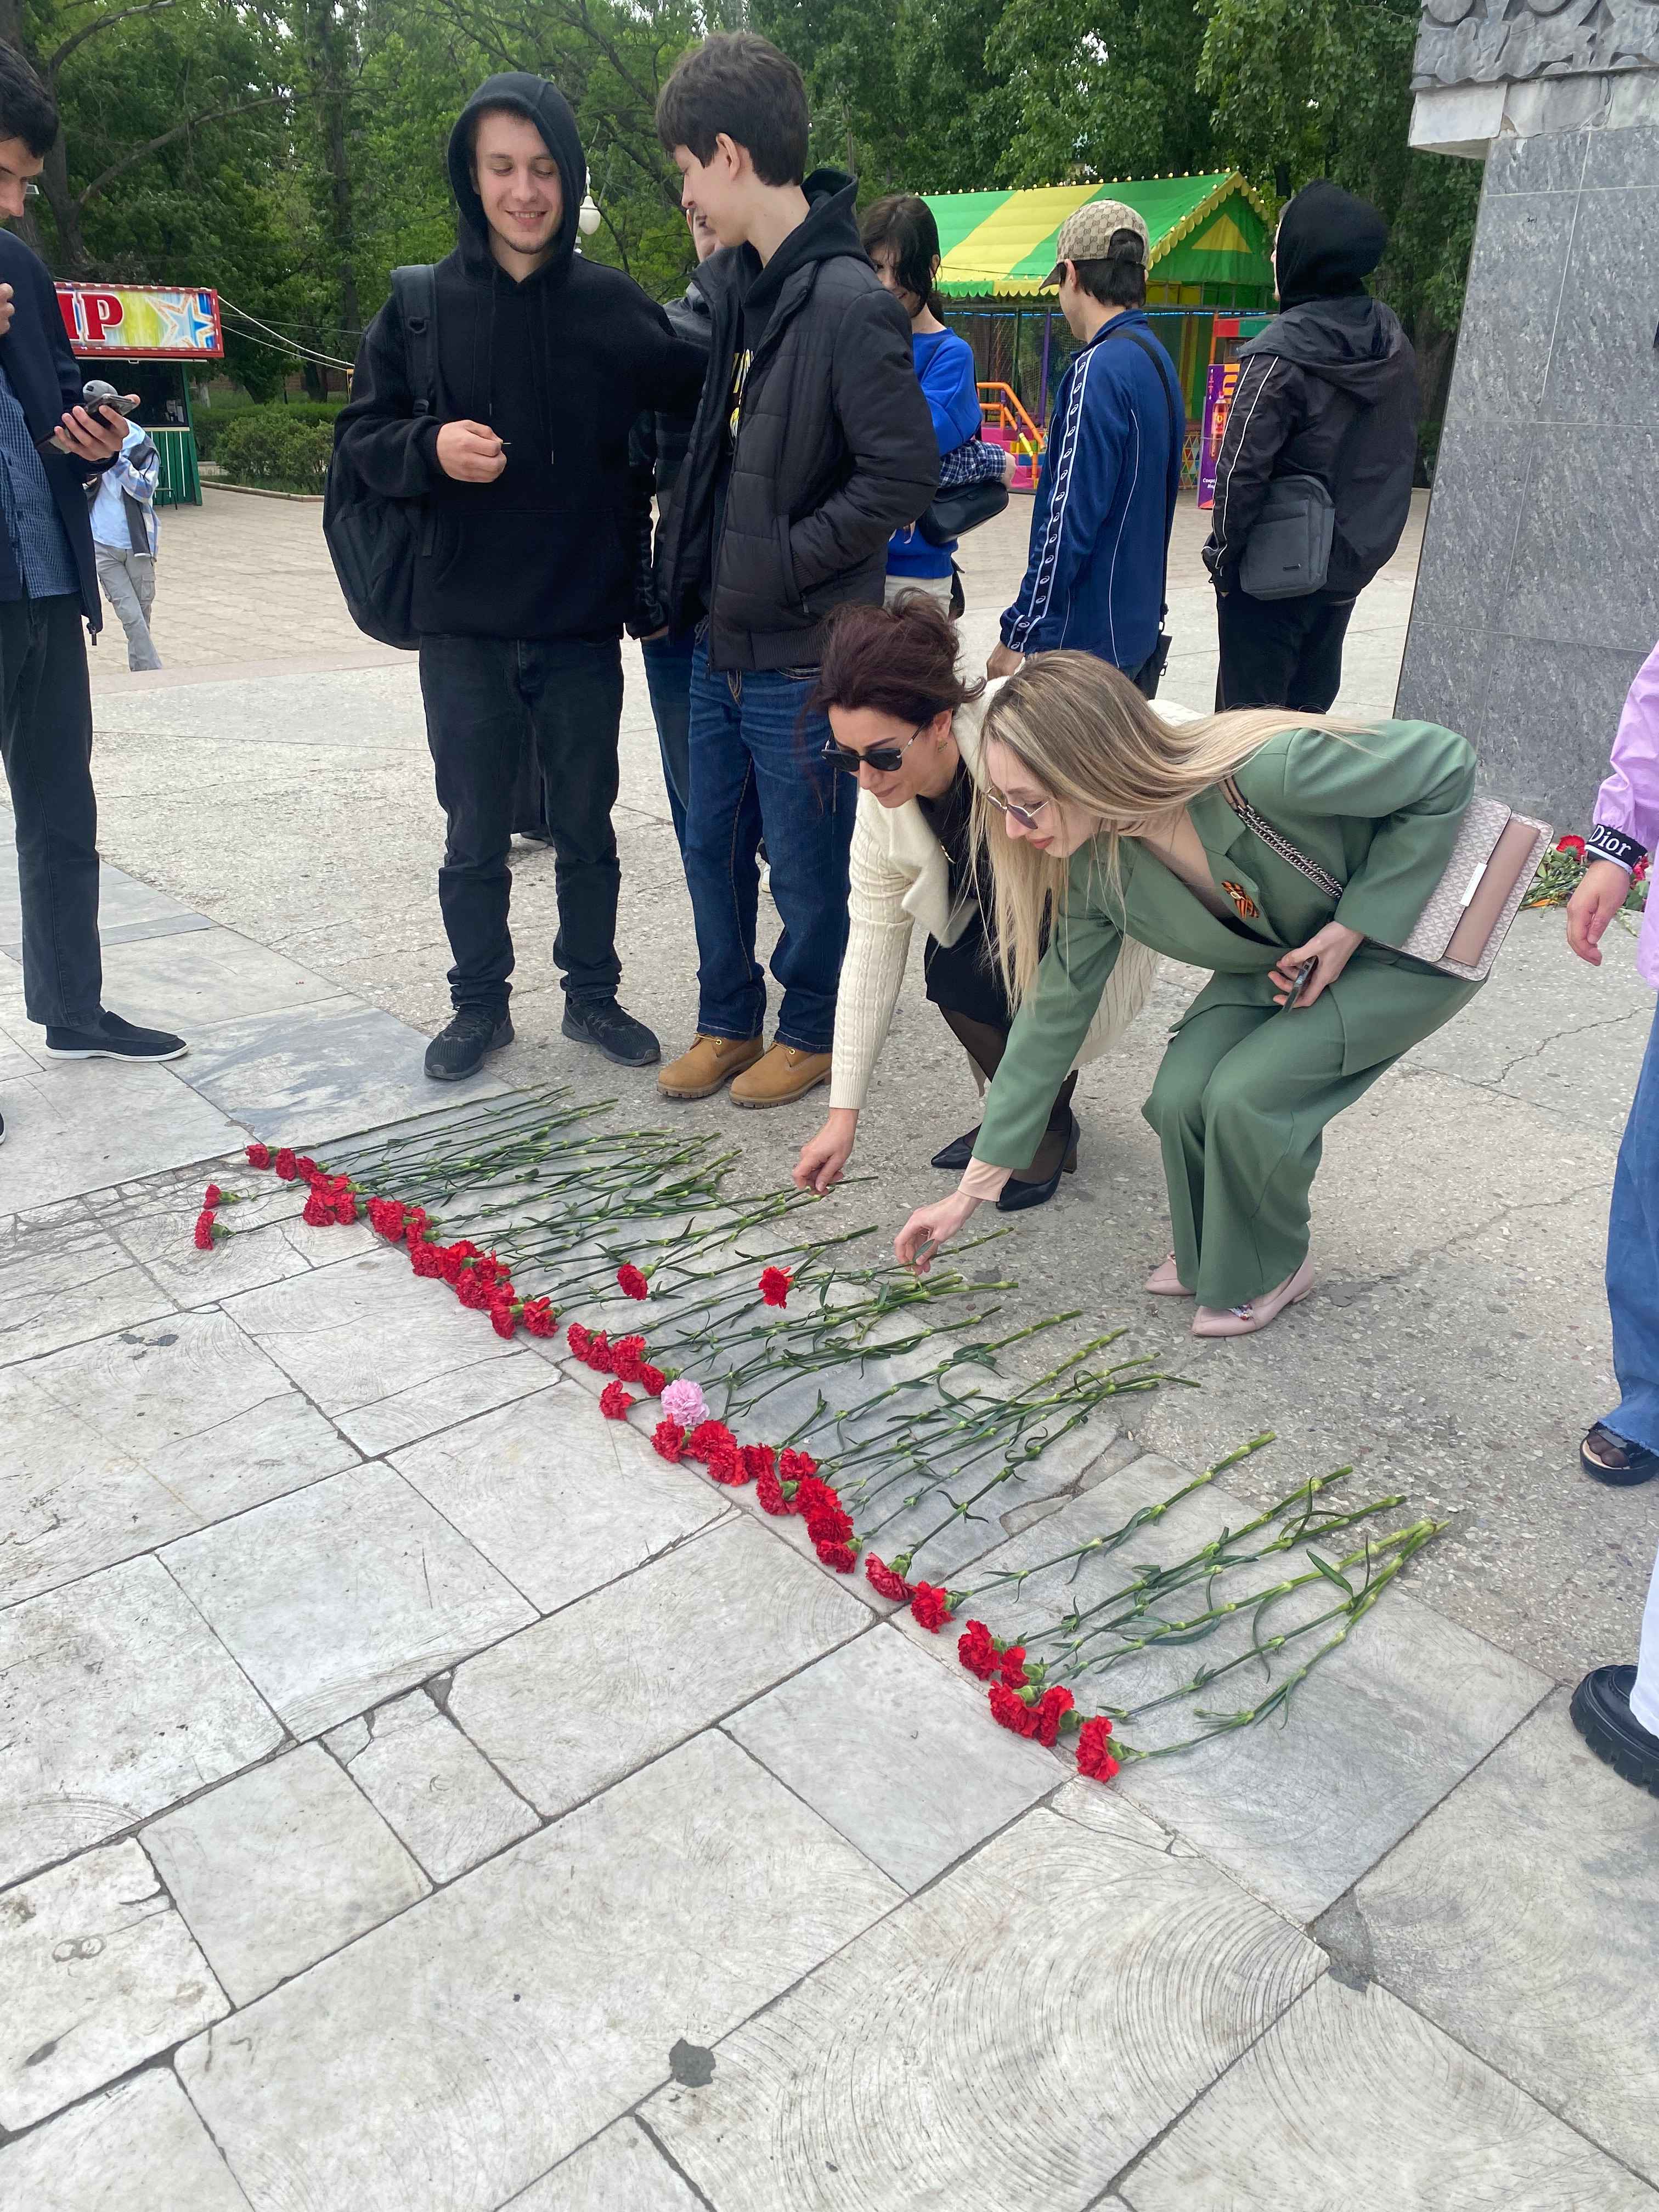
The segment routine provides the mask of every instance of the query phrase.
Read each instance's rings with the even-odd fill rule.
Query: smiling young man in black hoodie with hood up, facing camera
[[[586,177],[542,77],[473,93],[449,137],[460,243],[438,263],[438,414],[416,414],[394,294],[336,431],[369,489],[427,511],[414,613],[456,960],[456,1018],[427,1046],[438,1082],[513,1037],[507,849],[526,732],[551,796],[564,1035],[624,1066],[657,1060],[617,1004],[622,628],[646,624],[628,429],[646,407],[692,407],[703,361],[639,285],[577,254]]]

